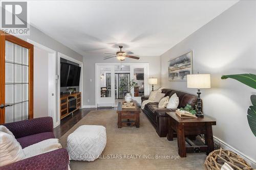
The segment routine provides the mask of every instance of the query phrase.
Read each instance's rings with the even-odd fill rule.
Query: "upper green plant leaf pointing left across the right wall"
[[[231,78],[241,83],[256,89],[256,75],[253,74],[239,74],[239,75],[223,75],[221,79]]]

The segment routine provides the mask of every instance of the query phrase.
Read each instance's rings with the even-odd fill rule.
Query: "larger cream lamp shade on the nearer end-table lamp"
[[[187,75],[187,88],[210,88],[210,75]]]

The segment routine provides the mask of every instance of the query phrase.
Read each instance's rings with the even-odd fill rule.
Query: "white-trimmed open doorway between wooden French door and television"
[[[50,116],[56,127],[56,51],[27,41],[34,45],[34,118]]]

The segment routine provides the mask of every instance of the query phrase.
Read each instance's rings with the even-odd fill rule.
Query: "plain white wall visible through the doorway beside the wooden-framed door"
[[[34,118],[48,116],[48,52],[34,48]]]

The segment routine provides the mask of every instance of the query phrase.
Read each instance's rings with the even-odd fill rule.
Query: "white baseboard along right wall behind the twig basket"
[[[231,147],[231,145],[227,144],[226,142],[224,142],[223,140],[219,139],[218,137],[214,136],[214,141],[217,143],[220,143],[221,148],[225,149],[225,150],[229,150],[232,151],[238,155],[240,155],[243,159],[246,160],[247,163],[249,163],[253,168],[256,167],[256,161],[254,159],[252,159],[251,157],[248,157],[247,155],[245,155],[244,153],[238,151],[237,149],[234,149],[233,147]]]

